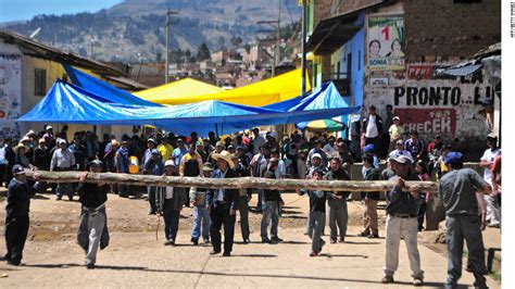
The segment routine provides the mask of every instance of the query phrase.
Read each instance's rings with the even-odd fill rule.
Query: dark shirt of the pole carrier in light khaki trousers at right
[[[420,180],[418,176],[411,175],[406,180]],[[409,191],[393,187],[386,196],[388,200],[387,213],[416,216],[419,206],[419,197],[414,198]]]

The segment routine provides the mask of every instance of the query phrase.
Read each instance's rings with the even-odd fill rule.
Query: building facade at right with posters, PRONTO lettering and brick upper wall
[[[426,140],[482,148],[489,128],[479,112],[500,101],[499,84],[482,68],[441,71],[501,41],[500,0],[311,1],[309,23],[314,86],[334,80],[349,105],[375,105],[380,115],[391,104]]]

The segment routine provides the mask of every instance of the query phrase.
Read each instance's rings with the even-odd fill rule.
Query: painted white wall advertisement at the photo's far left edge
[[[0,50],[0,139],[20,137],[21,103],[22,54]]]

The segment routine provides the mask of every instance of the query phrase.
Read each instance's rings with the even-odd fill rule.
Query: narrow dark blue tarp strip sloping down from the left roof
[[[130,105],[162,106],[161,104],[140,99],[123,89],[114,87],[81,71],[75,70],[68,64],[63,63],[62,65],[75,86],[78,86],[92,92],[93,95],[103,98],[106,102]]]

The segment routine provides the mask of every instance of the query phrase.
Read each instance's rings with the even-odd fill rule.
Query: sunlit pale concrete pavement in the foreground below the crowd
[[[395,284],[380,284],[385,249],[381,239],[353,237],[360,228],[350,228],[348,243],[327,244],[322,256],[310,257],[310,239],[301,228],[280,230],[280,244],[235,244],[231,257],[210,256],[211,247],[193,247],[189,231],[181,230],[177,247],[164,247],[153,233],[114,233],[111,244],[98,254],[98,267],[86,269],[75,236],[39,247],[27,241],[25,266],[0,263],[0,287],[296,287],[296,288],[399,288],[412,287],[406,250],[401,243],[400,267]],[[259,236],[251,235],[253,241]],[[240,240],[236,236],[236,240]],[[3,238],[0,247],[4,248]],[[426,287],[442,287],[447,259],[419,246]],[[463,271],[461,284],[472,286],[474,277]],[[490,288],[500,288],[488,278]]]

